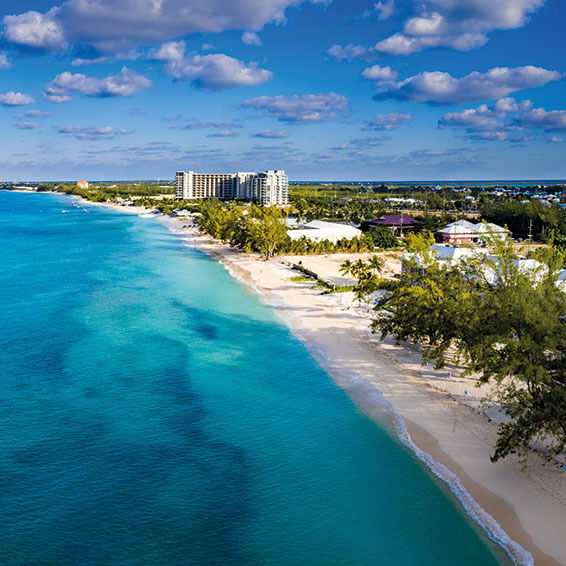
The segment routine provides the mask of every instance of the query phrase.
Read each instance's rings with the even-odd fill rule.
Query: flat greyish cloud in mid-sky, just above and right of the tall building
[[[293,96],[259,96],[242,102],[244,108],[263,110],[281,122],[305,124],[337,118],[348,109],[343,94],[295,94]]]

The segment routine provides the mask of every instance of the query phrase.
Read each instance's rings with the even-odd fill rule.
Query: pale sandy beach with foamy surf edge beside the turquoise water
[[[321,295],[311,283],[291,281],[297,272],[288,260],[296,258],[266,262],[168,223],[187,245],[259,292],[358,407],[382,424],[389,421],[518,563],[566,564],[566,472],[535,453],[526,469],[512,457],[491,463],[497,427],[475,408],[480,392],[473,380],[423,367],[414,349],[381,342],[368,330],[370,313],[352,303],[352,294]],[[302,259],[319,268],[323,263]]]

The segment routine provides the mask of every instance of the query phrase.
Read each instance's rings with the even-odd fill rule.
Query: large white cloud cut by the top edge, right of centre
[[[401,31],[370,47],[335,45],[329,51],[337,58],[348,55],[369,58],[376,55],[410,55],[433,47],[470,51],[485,45],[489,33],[523,27],[546,0],[423,0],[414,2]],[[391,5],[389,5],[391,4]],[[386,19],[393,2],[375,6]],[[355,47],[355,49],[353,49]],[[341,51],[344,49],[346,51]]]

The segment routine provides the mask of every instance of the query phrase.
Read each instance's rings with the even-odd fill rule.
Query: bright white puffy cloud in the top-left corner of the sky
[[[4,38],[10,43],[45,51],[60,51],[66,47],[59,8],[41,14],[33,10],[16,16],[4,16]]]

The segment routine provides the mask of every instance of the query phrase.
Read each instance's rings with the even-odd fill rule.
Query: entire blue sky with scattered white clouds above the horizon
[[[566,178],[564,0],[3,0],[0,179]]]

